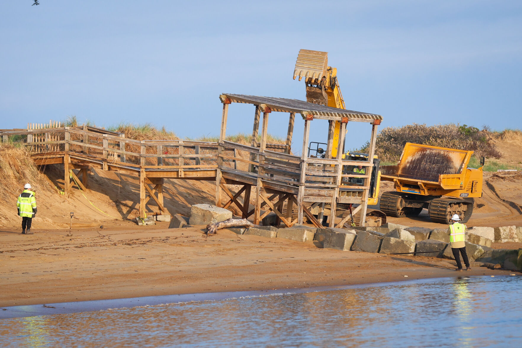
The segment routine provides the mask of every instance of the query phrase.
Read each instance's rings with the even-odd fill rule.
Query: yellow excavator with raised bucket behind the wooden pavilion
[[[328,66],[328,52],[300,50],[295,62],[293,79],[296,77],[299,78],[299,81],[304,78],[307,102],[338,109],[346,109],[345,100],[342,98],[341,89],[339,88],[339,82],[337,80],[337,68]],[[340,129],[341,123],[335,121],[333,134],[328,134],[329,138],[333,138],[331,152],[329,153],[331,154],[331,158],[336,158],[338,151],[343,151],[342,148],[338,148]],[[309,155],[312,149],[312,143],[321,144],[311,142],[309,145]],[[318,145],[313,150],[316,151],[316,154],[324,153],[324,150],[318,148]],[[350,152],[343,154],[343,158],[367,161],[368,154]],[[343,166],[343,171],[353,171],[353,169],[347,167],[348,166]],[[379,170],[379,160],[374,156],[368,204],[377,204],[380,183],[381,171]],[[349,208],[351,210],[351,204]],[[372,216],[374,217],[373,220],[380,221],[383,224],[386,222],[386,215],[378,210],[369,209],[367,210],[366,216]],[[357,217],[357,219],[359,219],[359,217]],[[380,225],[380,223],[377,225]]]

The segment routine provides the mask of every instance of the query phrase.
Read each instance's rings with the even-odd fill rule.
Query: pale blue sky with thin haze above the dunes
[[[0,0],[0,129],[66,120],[152,123],[217,136],[221,93],[305,100],[300,49],[328,52],[350,110],[379,129],[458,123],[522,129],[520,1]],[[227,134],[252,132],[233,103]],[[316,120],[311,141],[325,141]],[[314,121],[313,121],[314,122]],[[286,137],[288,114],[268,132]],[[304,122],[296,117],[293,151]],[[347,149],[371,126],[350,122]]]

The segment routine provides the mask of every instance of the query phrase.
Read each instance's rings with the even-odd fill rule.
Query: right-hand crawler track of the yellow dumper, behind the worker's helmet
[[[468,222],[473,212],[473,200],[452,198],[436,198],[430,202],[428,213],[431,221],[448,224],[454,214],[460,217],[461,223]]]

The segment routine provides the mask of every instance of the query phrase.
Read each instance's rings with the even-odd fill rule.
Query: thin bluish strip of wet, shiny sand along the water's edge
[[[507,276],[507,275],[498,275]],[[456,276],[458,278],[480,278],[490,277],[489,275],[478,276]],[[102,300],[88,300],[75,302],[62,302],[51,304],[37,304],[37,305],[22,305],[1,308],[0,319],[15,319],[26,318],[33,316],[47,316],[59,314],[73,314],[79,312],[98,311],[98,310],[118,310],[118,309],[132,309],[144,307],[164,307],[171,305],[182,305],[187,303],[203,303],[207,301],[225,301],[239,298],[255,298],[264,296],[280,296],[280,295],[294,295],[306,294],[323,291],[338,291],[353,288],[372,288],[378,286],[394,286],[401,283],[428,283],[441,280],[450,280],[455,277],[435,277],[415,280],[401,280],[393,282],[378,282],[378,283],[362,283],[352,285],[340,286],[315,286],[310,288],[295,288],[292,291],[281,292],[279,289],[275,290],[253,290],[253,291],[233,291],[233,292],[219,292],[219,293],[196,293],[196,294],[175,294],[162,296],[145,296],[134,298],[118,298],[118,299],[102,299]]]

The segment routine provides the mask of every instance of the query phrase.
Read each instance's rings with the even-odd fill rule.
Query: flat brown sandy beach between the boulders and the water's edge
[[[506,275],[452,260],[320,249],[201,228],[0,231],[0,307]],[[405,277],[407,275],[407,277]]]

